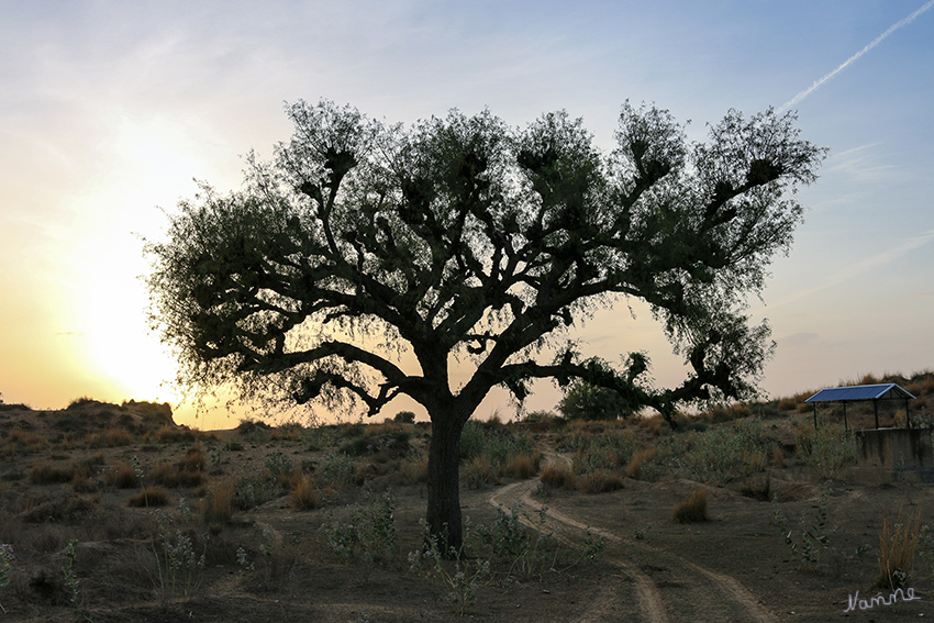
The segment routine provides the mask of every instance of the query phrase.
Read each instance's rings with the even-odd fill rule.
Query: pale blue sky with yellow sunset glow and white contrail
[[[162,238],[194,179],[238,188],[247,152],[290,137],[285,104],[321,98],[405,123],[489,108],[520,126],[564,109],[608,152],[627,99],[690,120],[696,141],[731,108],[794,110],[831,153],[749,301],[778,344],[764,392],[934,368],[934,0],[0,0],[0,14],[8,403],[177,403],[146,322],[143,238]],[[633,311],[575,337],[610,360],[646,349],[658,383],[677,383],[680,361]],[[559,398],[540,383],[526,407]],[[511,413],[502,393],[478,416],[497,409]]]

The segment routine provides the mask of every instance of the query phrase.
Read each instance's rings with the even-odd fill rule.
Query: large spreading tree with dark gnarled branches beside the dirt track
[[[147,245],[154,324],[189,386],[369,415],[401,394],[424,405],[426,519],[448,545],[460,432],[491,388],[521,400],[535,379],[582,379],[669,418],[755,390],[774,346],[745,301],[824,153],[792,115],[730,111],[701,144],[625,103],[605,154],[564,112],[524,129],[489,112],[409,127],[329,101],[287,112],[273,162],[248,158],[240,191],[204,185]],[[578,355],[568,329],[619,298],[645,301],[690,365],[679,387],[655,389],[642,353],[618,369]]]

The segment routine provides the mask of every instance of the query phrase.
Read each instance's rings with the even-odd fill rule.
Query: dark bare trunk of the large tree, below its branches
[[[453,413],[432,418],[429,446],[429,508],[425,520],[445,558],[459,555],[464,545],[460,519],[460,432],[466,419]]]

